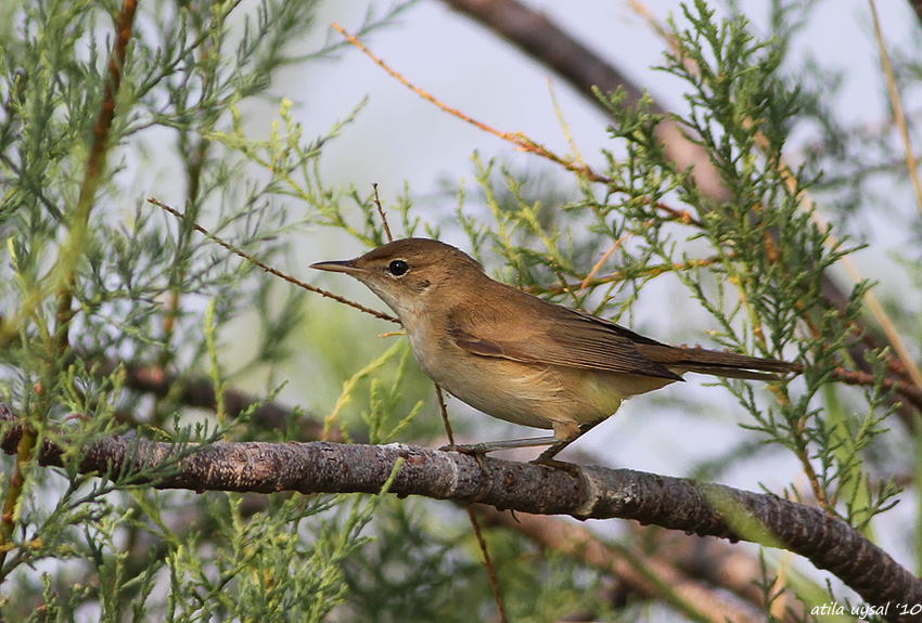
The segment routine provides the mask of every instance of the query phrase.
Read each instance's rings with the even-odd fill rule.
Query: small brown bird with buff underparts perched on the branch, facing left
[[[458,449],[550,445],[549,462],[626,398],[687,372],[771,380],[796,364],[677,348],[491,280],[473,258],[427,238],[394,241],[354,260],[311,264],[354,276],[400,319],[423,372],[487,415],[553,437]]]

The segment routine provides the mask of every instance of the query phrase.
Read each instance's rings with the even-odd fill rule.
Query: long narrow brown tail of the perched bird
[[[637,349],[649,360],[669,368],[676,374],[695,372],[727,378],[772,380],[802,369],[799,364],[777,359],[764,359],[703,348],[637,345]]]

